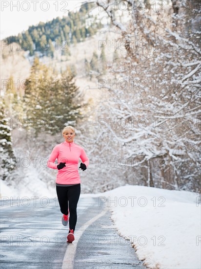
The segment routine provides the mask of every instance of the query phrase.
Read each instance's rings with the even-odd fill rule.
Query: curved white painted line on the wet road
[[[74,256],[76,253],[77,244],[79,242],[79,239],[82,235],[82,233],[85,231],[85,229],[91,225],[93,222],[101,218],[106,213],[106,210],[103,210],[99,215],[94,217],[93,219],[89,220],[87,223],[83,224],[78,231],[75,233],[75,241],[72,244],[68,244],[68,247],[66,249],[63,263],[62,263],[62,269],[73,269],[74,266]]]

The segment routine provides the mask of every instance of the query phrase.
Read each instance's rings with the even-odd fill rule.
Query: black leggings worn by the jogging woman
[[[60,204],[60,212],[64,215],[68,215],[68,203],[69,203],[69,228],[75,231],[77,223],[77,204],[80,198],[80,184],[73,186],[56,186],[57,197]]]

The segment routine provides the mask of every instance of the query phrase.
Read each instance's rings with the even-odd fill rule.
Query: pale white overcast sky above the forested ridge
[[[67,15],[84,0],[1,0],[0,39],[17,35],[30,25]]]

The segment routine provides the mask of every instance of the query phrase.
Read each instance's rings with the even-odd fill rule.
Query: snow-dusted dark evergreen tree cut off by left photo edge
[[[0,166],[1,179],[5,180],[16,167],[16,158],[12,149],[11,128],[5,117],[5,104],[0,101]]]

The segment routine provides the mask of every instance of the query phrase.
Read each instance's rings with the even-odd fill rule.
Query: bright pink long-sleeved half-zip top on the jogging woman
[[[54,147],[48,161],[47,166],[53,169],[57,169],[57,164],[54,163],[56,158],[58,164],[65,162],[65,166],[58,170],[56,183],[58,184],[79,184],[80,175],[78,172],[79,158],[86,165],[89,164],[89,160],[82,147],[74,142],[69,143],[64,141]]]

